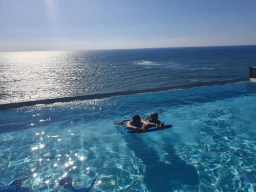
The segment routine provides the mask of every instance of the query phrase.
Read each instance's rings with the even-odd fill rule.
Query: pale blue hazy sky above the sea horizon
[[[256,45],[255,0],[0,0],[0,51]]]

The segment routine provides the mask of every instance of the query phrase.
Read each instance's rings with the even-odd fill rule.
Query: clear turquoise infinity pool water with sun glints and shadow
[[[0,111],[0,183],[33,191],[254,191],[256,84],[137,94]],[[116,125],[158,112],[172,129]],[[115,124],[114,124],[115,123]]]

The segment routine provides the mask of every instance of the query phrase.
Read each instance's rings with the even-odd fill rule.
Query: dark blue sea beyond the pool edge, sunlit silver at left
[[[0,104],[248,77],[256,46],[0,53]]]

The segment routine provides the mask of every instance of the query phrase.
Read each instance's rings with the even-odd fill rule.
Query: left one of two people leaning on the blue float
[[[126,123],[126,127],[129,130],[134,130],[136,133],[145,133],[146,129],[151,127],[152,125],[146,121],[140,119],[139,115],[134,115],[132,121],[128,121]]]

